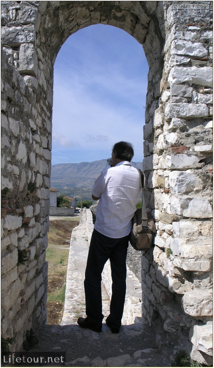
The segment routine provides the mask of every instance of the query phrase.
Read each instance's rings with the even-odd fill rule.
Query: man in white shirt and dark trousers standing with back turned
[[[134,151],[128,142],[118,142],[112,150],[113,167],[96,179],[92,198],[99,203],[85,271],[86,318],[78,325],[96,332],[102,329],[101,273],[108,258],[111,264],[112,296],[106,324],[119,333],[126,293],[126,255],[132,217],[141,192],[138,170],[131,166]]]

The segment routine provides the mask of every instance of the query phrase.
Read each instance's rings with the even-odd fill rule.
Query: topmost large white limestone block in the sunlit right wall
[[[200,42],[173,40],[171,45],[171,54],[204,57],[207,56],[207,50]]]

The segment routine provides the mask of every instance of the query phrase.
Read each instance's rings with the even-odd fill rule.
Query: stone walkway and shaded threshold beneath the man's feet
[[[88,218],[87,218],[88,222]],[[90,224],[89,224],[90,227]],[[90,231],[89,231],[90,232]],[[88,256],[89,233],[86,230],[86,213],[81,213],[80,224],[72,231],[66,285],[66,299],[61,325],[44,325],[40,329],[39,343],[33,351],[47,351],[65,355],[67,367],[170,367],[173,346],[156,346],[155,332],[139,322],[140,283],[133,273],[127,272],[127,295],[124,321],[120,333],[111,333],[105,318],[101,333],[77,325],[79,316],[85,316],[84,274]],[[107,287],[108,288],[108,287]],[[130,294],[130,295],[128,295]],[[102,286],[103,314],[109,314],[109,296]],[[132,299],[137,299],[132,310]],[[55,365],[56,366],[56,365]]]

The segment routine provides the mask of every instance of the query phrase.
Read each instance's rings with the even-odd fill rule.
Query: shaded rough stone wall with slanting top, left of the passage
[[[1,63],[1,332],[15,351],[46,321],[51,153],[35,95],[4,51]]]

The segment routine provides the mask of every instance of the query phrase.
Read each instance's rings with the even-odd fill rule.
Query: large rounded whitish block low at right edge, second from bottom
[[[212,316],[212,296],[209,291],[194,289],[182,297],[182,306],[186,314],[193,317]]]

